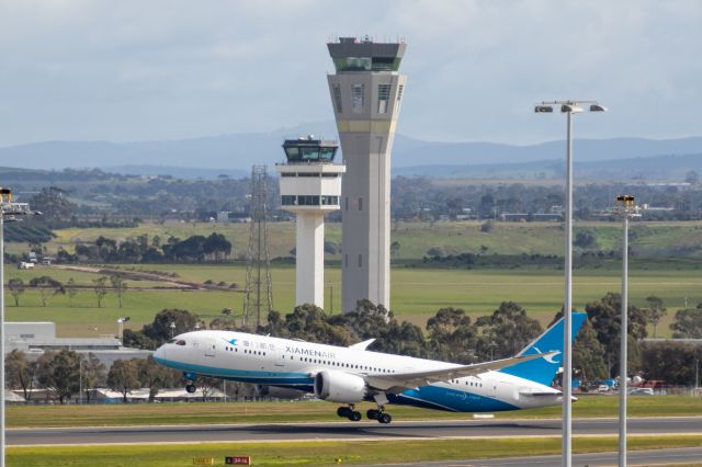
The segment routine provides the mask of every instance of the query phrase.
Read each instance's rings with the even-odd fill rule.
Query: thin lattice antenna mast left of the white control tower
[[[251,327],[251,320],[256,318],[258,328],[261,326],[261,315],[268,317],[269,311],[273,309],[267,219],[268,172],[265,166],[253,166],[251,170],[251,228],[244,300],[245,327]]]

